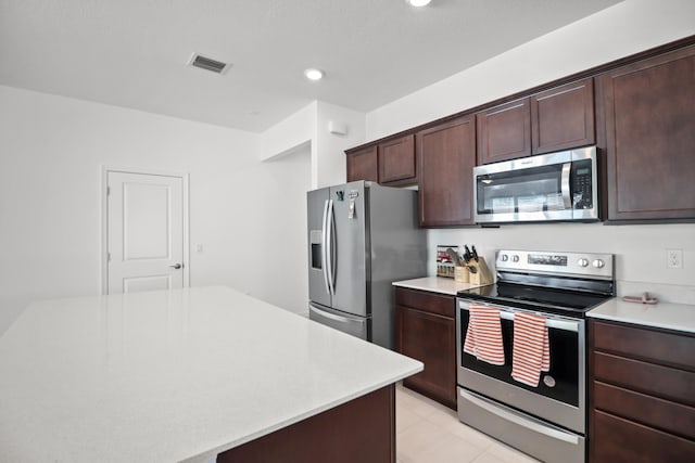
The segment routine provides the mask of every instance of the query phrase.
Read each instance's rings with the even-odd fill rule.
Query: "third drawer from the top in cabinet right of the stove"
[[[601,382],[594,383],[594,407],[695,440],[695,408]]]

